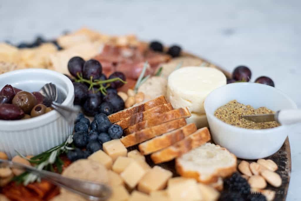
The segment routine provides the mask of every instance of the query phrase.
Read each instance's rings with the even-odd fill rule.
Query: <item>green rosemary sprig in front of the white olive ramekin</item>
[[[62,153],[68,152],[68,150],[74,149],[72,146],[73,146],[73,138],[72,135],[70,135],[68,136],[67,140],[64,143],[55,146],[39,155],[36,155],[31,159],[27,159],[24,155],[20,154],[17,150],[15,151],[22,158],[28,160],[32,164],[35,164],[35,167],[38,170],[44,169],[44,170],[54,172],[53,165],[55,165],[57,167],[57,171],[61,173],[63,170],[64,162],[60,158],[60,155]],[[36,174],[29,173],[29,172],[24,172],[23,174],[20,174],[19,176],[13,178],[13,181],[16,181],[17,183],[23,183],[24,186],[37,180],[39,181],[40,178]]]

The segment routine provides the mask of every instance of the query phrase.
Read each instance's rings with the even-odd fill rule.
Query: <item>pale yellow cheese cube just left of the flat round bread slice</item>
[[[167,180],[171,177],[171,171],[161,168],[160,166],[154,166],[139,181],[138,190],[143,193],[162,190],[166,187]]]

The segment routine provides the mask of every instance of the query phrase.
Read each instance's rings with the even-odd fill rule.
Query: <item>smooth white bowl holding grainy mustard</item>
[[[226,124],[214,116],[217,108],[236,99],[254,108],[267,107],[273,111],[296,109],[296,103],[272,86],[259,83],[232,83],[212,91],[204,107],[213,141],[241,159],[260,159],[277,152],[283,145],[290,126],[269,129],[245,129]]]

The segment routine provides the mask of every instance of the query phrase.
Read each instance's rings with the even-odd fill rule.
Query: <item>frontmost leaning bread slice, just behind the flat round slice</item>
[[[210,139],[211,137],[208,128],[200,128],[172,146],[151,154],[151,159],[155,164],[171,161],[172,159],[189,152],[191,149],[197,148],[208,142]]]

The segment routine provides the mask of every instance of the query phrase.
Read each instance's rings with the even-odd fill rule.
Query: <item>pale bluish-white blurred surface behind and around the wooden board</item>
[[[0,41],[55,38],[87,26],[108,34],[177,43],[228,71],[271,77],[301,108],[301,1],[0,0]],[[263,95],[264,96],[264,95]],[[292,174],[287,200],[300,200],[301,126],[289,134]]]

